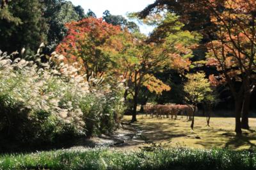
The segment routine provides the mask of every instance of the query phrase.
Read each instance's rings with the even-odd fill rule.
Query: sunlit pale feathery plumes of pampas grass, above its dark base
[[[40,45],[34,61],[21,58],[12,61],[6,52],[0,51],[0,96],[22,102],[24,108],[20,109],[30,109],[32,115],[41,110],[51,112],[59,120],[75,125],[81,133],[84,133],[84,118],[88,114],[81,105],[90,103],[85,97],[91,95],[98,98],[95,101],[100,102],[99,105],[113,101],[122,105],[123,99],[112,97],[112,89],[108,84],[101,88],[97,86],[104,79],[90,77],[90,81],[86,81],[86,75],[78,73],[81,68],[77,68],[76,63],[63,63],[64,56],[55,52],[48,63],[40,63],[41,46],[44,47],[44,44]],[[15,54],[17,52],[12,55]],[[60,64],[54,64],[53,59]],[[120,91],[124,87],[123,82],[118,82],[115,86]],[[92,102],[88,107],[94,105]],[[113,109],[122,110],[120,105]],[[99,109],[93,114],[93,119],[96,119],[104,113]]]

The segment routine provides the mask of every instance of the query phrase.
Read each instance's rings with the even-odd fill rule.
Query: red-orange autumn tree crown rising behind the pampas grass
[[[93,17],[69,22],[66,26],[68,34],[56,51],[67,56],[70,63],[77,61],[77,66],[82,66],[86,72],[87,79],[108,73],[115,64],[112,54],[119,47],[119,40],[115,38],[122,34],[120,27]]]

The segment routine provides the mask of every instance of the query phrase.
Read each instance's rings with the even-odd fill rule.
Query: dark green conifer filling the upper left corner
[[[38,49],[46,42],[48,26],[42,16],[42,3],[36,0],[8,1],[1,9],[0,49],[13,52],[26,48],[26,52]],[[3,11],[9,17],[3,17]]]

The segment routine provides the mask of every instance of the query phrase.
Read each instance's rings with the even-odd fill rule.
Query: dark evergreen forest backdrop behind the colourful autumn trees
[[[182,20],[184,20],[183,18],[188,16],[188,13],[182,9],[184,7],[181,7],[181,5],[182,3],[170,4],[168,10],[183,16]],[[154,3],[154,7],[157,7],[157,2]],[[153,8],[153,6],[148,6],[148,8],[140,13],[140,17],[145,17],[152,10],[150,8]],[[63,0],[2,1],[0,17],[0,49],[8,53],[16,50],[20,52],[24,48],[26,49],[25,54],[33,54],[38,49],[40,43],[44,42],[46,44],[44,53],[50,55],[67,35],[68,30],[65,27],[65,23],[88,17],[102,17],[104,21],[114,26],[127,26],[132,29],[139,29],[134,22],[128,21],[121,15],[111,15],[108,10],[102,13],[102,16],[96,16],[91,10],[85,13],[81,6],[74,6],[70,1]],[[200,21],[195,22],[195,20]],[[194,10],[189,13],[189,20],[184,24],[182,29],[200,31],[204,28],[209,29],[210,26],[211,21],[209,15]],[[159,36],[164,37],[166,27],[166,25],[158,27],[151,33],[151,38],[148,41],[153,42],[154,38],[156,39]],[[193,68],[191,67],[189,73],[204,71],[208,77],[217,72],[216,69],[205,66],[204,63],[200,62],[205,60],[205,52],[207,52],[205,43],[207,42],[209,42],[209,37],[204,35],[200,41],[200,45],[196,49],[193,49],[193,58],[191,58]],[[172,90],[164,91],[163,95],[156,95],[154,93],[148,93],[147,89],[143,89],[140,95],[140,104],[145,104],[146,100],[159,104],[184,104],[186,102],[184,100],[184,92],[182,92],[186,77],[180,77],[180,74],[172,69],[166,69],[164,72],[155,74],[158,79],[170,85]],[[237,82],[237,86],[239,86],[239,82]],[[218,102],[216,102],[214,107],[215,110],[230,110],[234,108],[234,100],[227,86],[219,86],[217,93]],[[148,94],[148,96],[145,97],[143,96],[144,94]],[[253,91],[251,97],[252,101],[255,100],[255,91]],[[202,106],[200,109],[202,109]],[[256,105],[251,104],[250,109],[256,109]]]

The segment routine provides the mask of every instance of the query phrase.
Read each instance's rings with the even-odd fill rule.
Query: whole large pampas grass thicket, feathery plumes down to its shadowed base
[[[55,143],[111,132],[118,125],[122,82],[88,82],[76,63],[68,65],[54,54],[48,63],[41,63],[39,54],[31,57],[34,61],[11,58],[0,51],[0,135],[5,139]]]

